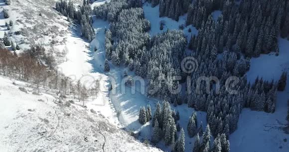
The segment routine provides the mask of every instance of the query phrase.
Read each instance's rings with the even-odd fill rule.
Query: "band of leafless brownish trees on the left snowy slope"
[[[46,54],[40,45],[30,46],[21,54],[0,49],[0,75],[13,79],[24,80],[46,90],[62,95],[73,95],[84,102],[92,96],[97,98],[100,89],[99,80],[91,88],[86,88],[80,80],[74,82],[54,69],[56,62],[51,54]]]

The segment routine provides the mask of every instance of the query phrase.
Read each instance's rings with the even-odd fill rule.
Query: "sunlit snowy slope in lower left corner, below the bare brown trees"
[[[78,102],[67,107],[43,89],[41,95],[33,95],[33,87],[26,87],[25,82],[14,85],[3,76],[0,82],[0,152],[159,151],[137,142],[101,112],[89,112]],[[20,91],[19,86],[28,92]]]

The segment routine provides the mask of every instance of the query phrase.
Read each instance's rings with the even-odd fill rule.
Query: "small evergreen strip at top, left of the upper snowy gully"
[[[67,16],[68,21],[70,19],[76,19],[77,23],[81,25],[81,36],[93,40],[95,36],[94,28],[92,27],[92,19],[90,13],[92,12],[89,0],[83,0],[83,5],[76,11],[75,6],[71,1],[67,3],[66,0],[60,0],[56,2],[55,9]]]

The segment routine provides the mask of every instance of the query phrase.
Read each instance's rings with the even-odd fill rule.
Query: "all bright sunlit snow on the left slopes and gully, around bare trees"
[[[0,2],[0,10],[3,7],[9,9],[10,17],[6,20],[15,21],[12,28],[25,33],[16,36],[13,31],[7,31],[11,40],[19,43],[22,49],[28,48],[28,43],[33,41],[44,45],[48,52],[55,51],[55,55],[65,51],[66,57],[57,59],[61,63],[57,67],[61,73],[75,81],[80,79],[87,87],[94,84],[96,79],[101,84],[97,99],[85,101],[87,108],[83,108],[80,102],[66,107],[59,104],[57,96],[51,92],[42,90],[41,95],[32,95],[33,87],[26,87],[26,82],[16,81],[16,85],[13,85],[7,77],[0,76],[0,152],[160,151],[137,142],[119,128],[117,114],[108,98],[108,76],[103,74],[101,65],[97,68],[93,58],[94,48],[80,38],[77,26],[69,25],[66,17],[53,9],[54,0],[12,1],[9,6],[3,0]],[[80,3],[82,0],[74,2]],[[102,33],[104,37],[104,26],[108,24],[103,23],[96,31],[97,35]],[[5,20],[1,14],[2,24],[5,24]],[[4,30],[1,28],[1,36]],[[102,45],[104,39],[98,41]],[[98,42],[94,45],[100,46]],[[25,87],[28,93],[21,92],[19,86]],[[91,109],[96,113],[92,113]],[[85,141],[85,138],[88,140]]]

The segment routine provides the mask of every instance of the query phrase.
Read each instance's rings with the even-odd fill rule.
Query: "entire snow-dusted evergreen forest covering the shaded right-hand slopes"
[[[150,23],[144,19],[143,9],[138,4],[116,0],[114,4],[104,4],[94,10],[99,18],[111,22],[106,32],[106,58],[116,66],[124,64],[131,71],[135,70],[136,75],[146,77],[147,95],[164,100],[162,107],[156,105],[152,118],[154,143],[163,139],[166,145],[174,144],[175,151],[183,150],[182,136],[175,143],[175,132],[181,129],[176,125],[177,114],[170,109],[169,103],[177,106],[184,101],[188,107],[207,112],[208,126],[204,134],[202,127],[197,127],[196,114],[189,118],[189,136],[203,135],[202,143],[196,141],[199,143],[195,146],[196,152],[211,150],[211,134],[216,138],[214,151],[221,147],[222,152],[227,152],[226,139],[237,129],[244,107],[275,111],[277,89],[284,85],[284,78],[279,85],[263,78],[256,78],[251,84],[245,74],[250,69],[250,57],[258,57],[277,47],[279,30],[284,29],[283,24],[287,22],[286,15],[277,9],[281,4],[275,0],[242,0],[240,5],[235,5],[233,0],[194,0],[192,5],[184,8],[184,3],[191,3],[191,0],[150,1],[153,6],[160,3],[160,14],[172,18],[175,17],[175,6],[180,7],[179,14],[187,9],[187,24],[199,29],[198,35],[192,35],[188,44],[193,51],[186,51],[187,40],[182,31],[166,31],[149,38],[146,32]],[[268,7],[271,4],[273,9]],[[282,8],[287,10],[287,3],[283,4],[286,9],[284,5]],[[110,9],[114,11],[108,15]],[[216,9],[223,10],[217,22],[211,15]],[[260,24],[262,22],[264,24]],[[218,53],[222,55],[217,58]],[[191,74],[181,71],[185,57],[193,57],[199,63],[198,69]],[[174,76],[181,78],[176,80]],[[201,76],[208,80],[199,84]],[[231,76],[239,77],[238,81],[228,81]],[[183,82],[188,89],[184,96],[176,91],[179,83]],[[147,120],[144,119],[145,113],[145,108],[141,108],[142,124]]]

